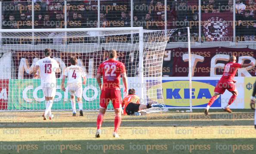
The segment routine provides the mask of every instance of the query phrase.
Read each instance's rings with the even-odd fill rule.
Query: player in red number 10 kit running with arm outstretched
[[[229,113],[231,113],[231,109],[229,108],[229,106],[234,102],[234,100],[237,98],[238,95],[238,91],[236,89],[236,86],[234,83],[236,83],[236,81],[234,80],[234,76],[237,73],[237,68],[246,68],[248,66],[253,66],[253,62],[251,62],[250,64],[239,64],[236,63],[237,58],[232,55],[229,58],[229,63],[225,65],[224,67],[224,73],[222,75],[222,78],[219,80],[217,86],[215,86],[214,89],[214,95],[212,96],[212,98],[210,99],[206,109],[204,110],[204,114],[208,115],[209,112],[209,108],[212,105],[212,103],[219,98],[220,94],[223,94],[225,92],[225,90],[227,89],[229,92],[231,92],[233,95],[231,96],[231,98],[228,101],[228,105],[224,108],[224,111],[227,111]]]

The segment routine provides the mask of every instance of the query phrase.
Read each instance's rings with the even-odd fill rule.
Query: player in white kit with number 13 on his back
[[[43,114],[44,120],[49,113],[49,119],[53,118],[51,108],[53,106],[53,99],[56,94],[56,74],[60,72],[59,64],[56,60],[50,58],[52,55],[51,49],[44,50],[44,59],[37,61],[34,68],[34,77],[37,78],[37,70],[40,69],[41,88],[44,92],[46,109]]]

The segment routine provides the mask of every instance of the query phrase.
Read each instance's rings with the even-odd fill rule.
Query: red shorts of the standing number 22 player
[[[100,108],[107,108],[109,101],[112,102],[114,108],[120,108],[122,96],[120,89],[105,89],[100,94]]]

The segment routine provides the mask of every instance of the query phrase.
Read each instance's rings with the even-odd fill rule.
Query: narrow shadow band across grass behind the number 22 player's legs
[[[103,121],[103,126],[113,126],[114,120]],[[5,122],[0,123],[2,128],[70,128],[70,127],[96,127],[96,120],[74,121],[74,122]],[[169,127],[169,126],[253,126],[253,120],[122,120],[122,125],[126,127]]]

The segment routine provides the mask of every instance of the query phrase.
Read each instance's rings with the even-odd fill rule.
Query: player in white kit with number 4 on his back
[[[70,93],[70,102],[72,105],[73,110],[73,117],[76,116],[76,110],[75,110],[75,95],[77,97],[78,107],[80,110],[80,116],[83,115],[83,102],[82,102],[82,94],[83,94],[83,88],[82,88],[82,78],[84,79],[83,84],[86,83],[86,77],[83,69],[77,65],[78,60],[75,57],[70,57],[70,63],[71,66],[67,67],[64,71],[63,77],[62,77],[62,84],[61,88],[65,92],[66,89],[64,87],[65,79],[68,76],[68,87],[69,87],[69,93]]]

